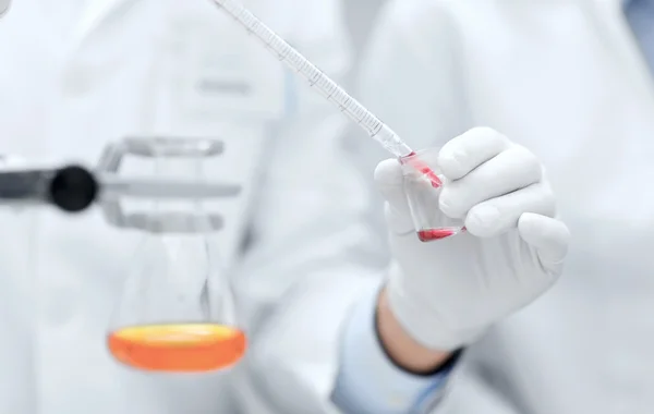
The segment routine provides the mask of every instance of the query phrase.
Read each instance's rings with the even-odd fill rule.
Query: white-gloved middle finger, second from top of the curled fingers
[[[535,156],[523,147],[514,146],[444,186],[440,210],[449,217],[463,218],[475,205],[537,183],[542,176]]]

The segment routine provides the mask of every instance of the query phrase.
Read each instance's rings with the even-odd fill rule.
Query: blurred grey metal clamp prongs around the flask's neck
[[[96,168],[96,172],[109,178],[118,174],[126,156],[146,158],[209,158],[221,155],[223,144],[210,138],[175,137],[128,137],[109,144]],[[164,183],[165,184],[165,183]],[[211,191],[202,196],[177,195],[177,198],[226,198],[240,194],[241,186],[235,184],[210,184]],[[107,222],[118,228],[138,229],[154,233],[197,233],[222,229],[225,221],[217,214],[157,211],[125,214],[120,199],[106,198],[100,203]]]

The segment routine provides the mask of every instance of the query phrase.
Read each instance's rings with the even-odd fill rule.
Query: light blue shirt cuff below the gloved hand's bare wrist
[[[372,291],[364,297],[344,326],[331,400],[348,414],[427,413],[443,397],[451,367],[433,376],[397,367],[377,339],[377,295]]]

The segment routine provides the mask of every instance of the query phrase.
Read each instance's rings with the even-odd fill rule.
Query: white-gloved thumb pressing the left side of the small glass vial
[[[386,200],[385,216],[388,228],[397,234],[407,234],[414,230],[403,182],[402,167],[397,159],[387,159],[377,165],[375,184]]]

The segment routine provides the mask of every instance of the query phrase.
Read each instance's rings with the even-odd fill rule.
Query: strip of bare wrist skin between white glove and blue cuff
[[[421,345],[402,328],[388,304],[386,288],[377,297],[375,326],[388,357],[401,369],[414,375],[433,375],[460,352],[432,350]]]

